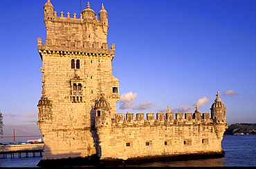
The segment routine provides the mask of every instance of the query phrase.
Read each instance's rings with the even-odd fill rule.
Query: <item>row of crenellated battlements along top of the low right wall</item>
[[[125,113],[116,114],[112,119],[111,126],[176,126],[176,125],[199,125],[213,124],[210,113]]]

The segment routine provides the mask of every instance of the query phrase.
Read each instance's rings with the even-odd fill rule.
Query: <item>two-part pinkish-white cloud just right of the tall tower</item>
[[[154,103],[152,102],[143,102],[136,106],[133,106],[135,104],[136,97],[137,97],[137,93],[133,93],[133,92],[127,92],[124,95],[121,95],[118,101],[121,103],[119,108],[121,110],[125,110],[127,108],[133,108],[133,110],[145,110],[154,106]]]

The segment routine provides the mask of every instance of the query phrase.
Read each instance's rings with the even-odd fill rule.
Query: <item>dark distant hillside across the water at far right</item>
[[[231,124],[224,135],[256,135],[256,123]]]

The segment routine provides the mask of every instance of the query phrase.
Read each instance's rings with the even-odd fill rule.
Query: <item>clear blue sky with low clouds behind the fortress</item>
[[[82,10],[86,8],[82,0]],[[4,130],[38,132],[46,0],[0,6],[0,110]],[[51,0],[80,14],[80,0]],[[117,112],[210,112],[216,92],[228,123],[256,123],[255,0],[91,0],[109,13],[108,43],[116,43],[113,75],[120,80]],[[223,95],[226,93],[226,95]],[[28,129],[30,128],[30,129]]]

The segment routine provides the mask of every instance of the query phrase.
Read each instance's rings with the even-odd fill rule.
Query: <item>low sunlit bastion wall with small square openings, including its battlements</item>
[[[134,119],[134,115],[129,113],[124,120],[122,114],[117,114],[111,125],[97,128],[100,159],[126,160],[222,151],[222,137],[217,137],[209,113],[204,113],[203,116],[196,113],[196,119],[190,118],[192,113],[185,114],[187,119],[181,118],[182,113],[176,114],[176,119],[172,118],[172,113],[169,115],[170,119],[162,118],[163,113],[157,114],[161,119],[154,119],[153,113],[147,114],[147,119],[143,115],[139,113]]]

